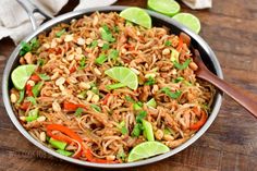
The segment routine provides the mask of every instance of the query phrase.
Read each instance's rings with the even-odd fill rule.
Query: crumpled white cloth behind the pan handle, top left
[[[54,15],[69,0],[30,0],[42,11]],[[103,7],[114,3],[117,0],[79,0],[79,4],[74,10],[81,10],[93,7]],[[38,25],[45,17],[38,13],[35,14]],[[33,32],[28,15],[16,0],[0,0],[0,39],[10,36],[15,44],[21,41]]]

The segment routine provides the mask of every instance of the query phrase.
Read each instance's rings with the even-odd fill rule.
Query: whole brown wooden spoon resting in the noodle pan
[[[203,62],[198,50],[194,50],[194,62],[198,65],[198,69],[195,72],[196,76],[211,83],[217,88],[224,91],[257,118],[257,101],[250,98],[247,95],[248,93],[241,90],[242,88],[235,88],[231,84],[212,74]]]

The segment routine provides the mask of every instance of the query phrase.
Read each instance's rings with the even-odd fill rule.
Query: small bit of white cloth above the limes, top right
[[[193,10],[209,9],[212,5],[212,0],[182,0]]]

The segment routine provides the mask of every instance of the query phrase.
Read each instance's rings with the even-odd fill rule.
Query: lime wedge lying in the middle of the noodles
[[[128,68],[114,66],[107,70],[105,74],[131,89],[135,90],[138,87],[138,78],[136,74]]]

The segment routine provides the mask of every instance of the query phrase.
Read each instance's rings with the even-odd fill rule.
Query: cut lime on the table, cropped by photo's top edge
[[[148,0],[147,7],[168,16],[173,16],[181,10],[180,4],[174,0]]]

